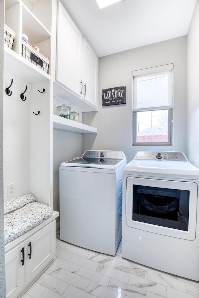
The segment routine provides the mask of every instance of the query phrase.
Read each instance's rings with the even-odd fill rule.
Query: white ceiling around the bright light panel
[[[95,0],[61,0],[99,56],[186,35],[196,0],[123,0],[99,10]]]

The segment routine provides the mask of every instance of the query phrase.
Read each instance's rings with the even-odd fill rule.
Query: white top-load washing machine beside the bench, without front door
[[[59,168],[60,239],[115,255],[122,235],[122,151],[86,151]]]

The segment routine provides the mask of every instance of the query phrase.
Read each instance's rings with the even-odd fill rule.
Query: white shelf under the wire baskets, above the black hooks
[[[6,46],[4,46],[4,70],[31,84],[50,79],[50,75]]]

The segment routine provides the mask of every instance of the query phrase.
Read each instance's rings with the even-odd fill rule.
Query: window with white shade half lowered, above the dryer
[[[173,64],[132,71],[133,145],[172,145]]]

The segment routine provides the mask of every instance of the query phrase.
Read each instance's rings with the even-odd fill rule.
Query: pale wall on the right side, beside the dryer
[[[199,0],[187,34],[187,152],[199,168]]]

